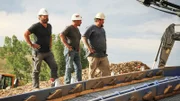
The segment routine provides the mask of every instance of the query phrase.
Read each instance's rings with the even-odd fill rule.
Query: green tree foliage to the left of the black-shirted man
[[[19,79],[28,82],[30,78],[31,65],[26,57],[30,53],[27,44],[19,41],[15,35],[5,37],[3,49],[0,51],[1,58],[5,58],[7,67],[11,68],[12,73]]]

